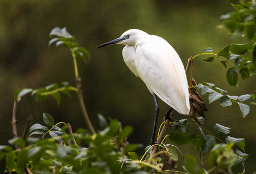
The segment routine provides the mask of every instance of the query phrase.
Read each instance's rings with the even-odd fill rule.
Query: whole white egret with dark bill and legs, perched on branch
[[[174,109],[180,114],[189,114],[188,81],[184,65],[178,53],[161,37],[149,35],[139,29],[127,30],[120,38],[107,42],[96,48],[112,44],[124,44],[122,56],[129,69],[146,84],[155,102],[155,122],[151,137],[154,144],[156,121],[159,106],[156,95],[171,108],[165,117]]]

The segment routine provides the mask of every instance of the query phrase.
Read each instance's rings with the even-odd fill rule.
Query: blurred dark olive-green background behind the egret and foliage
[[[126,67],[122,58],[123,45],[95,49],[98,45],[120,37],[128,29],[137,28],[167,40],[178,52],[186,66],[190,56],[211,47],[214,53],[231,43],[246,43],[247,39],[233,37],[228,30],[219,29],[221,14],[233,11],[230,3],[223,0],[185,1],[0,1],[0,122],[1,145],[8,144],[12,135],[13,94],[21,88],[37,89],[52,83],[68,81],[75,86],[74,68],[70,50],[64,47],[48,48],[48,34],[55,27],[67,27],[76,42],[88,49],[91,61],[87,64],[78,60],[82,78],[83,96],[93,126],[99,130],[97,114],[118,119],[122,125],[134,127],[128,141],[134,144],[149,145],[154,122],[154,101],[145,84]],[[193,77],[197,83],[214,83],[229,95],[254,94],[255,76],[243,81],[240,76],[237,87],[227,84],[227,69],[216,59],[207,63],[198,57],[194,61]],[[190,75],[189,75],[190,76]],[[246,173],[256,167],[254,123],[256,106],[251,105],[250,113],[243,119],[239,106],[223,108],[218,101],[208,105],[208,94],[203,96],[208,107],[203,127],[213,132],[218,122],[231,127],[229,136],[245,138]],[[160,103],[158,125],[169,109]],[[32,124],[43,124],[42,114],[47,112],[55,121],[70,122],[73,131],[86,128],[78,106],[77,96],[62,95],[59,106],[51,96],[45,101],[36,102],[29,95],[18,104],[18,135],[21,136],[29,114]],[[187,119],[186,115],[174,114],[174,119]],[[32,125],[31,124],[31,125]],[[195,127],[190,126],[190,134]],[[170,133],[168,130],[167,133]],[[206,134],[206,133],[205,133]],[[225,140],[225,137],[221,137]],[[171,142],[170,142],[171,143]],[[175,144],[174,144],[175,145]],[[192,142],[178,146],[184,154],[191,154],[199,160],[199,151],[194,152]],[[236,147],[237,149],[238,147]],[[137,150],[139,156],[144,149]],[[207,155],[203,157],[208,168]],[[179,155],[179,168],[184,160]],[[4,170],[1,161],[0,172]],[[242,172],[242,167],[234,171]]]

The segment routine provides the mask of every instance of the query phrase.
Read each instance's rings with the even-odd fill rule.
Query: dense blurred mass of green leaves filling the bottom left
[[[130,126],[119,131],[120,124],[117,120],[111,120],[107,124],[101,116],[102,130],[97,134],[88,134],[86,130],[78,129],[76,134],[71,135],[56,126],[60,123],[54,125],[51,115],[43,114],[43,120],[47,126],[51,126],[51,129],[35,124],[30,129],[31,135],[37,134],[33,134],[36,131],[47,131],[52,138],[29,137],[24,141],[18,137],[9,140],[9,144],[17,144],[19,150],[13,150],[12,146],[0,146],[0,160],[6,157],[7,171],[25,173],[25,167],[28,167],[32,173],[133,173],[141,170],[137,166],[121,167],[119,162],[125,158],[125,153],[134,151],[139,146],[122,144],[124,137],[132,132]],[[73,137],[78,146],[72,144]],[[82,144],[87,148],[81,147]],[[120,151],[121,144],[124,146],[123,152]]]

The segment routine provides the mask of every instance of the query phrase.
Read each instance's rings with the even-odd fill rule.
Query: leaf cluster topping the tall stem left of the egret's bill
[[[49,47],[52,43],[56,42],[56,47],[58,45],[64,45],[64,47],[67,47],[72,51],[72,54],[74,54],[76,58],[81,58],[85,60],[85,62],[87,62],[87,60],[90,60],[90,53],[88,52],[88,50],[83,47],[78,47],[78,44],[73,42],[73,40],[75,40],[75,37],[67,32],[66,27],[62,29],[60,27],[53,28],[50,33],[50,37],[55,38],[49,41]]]

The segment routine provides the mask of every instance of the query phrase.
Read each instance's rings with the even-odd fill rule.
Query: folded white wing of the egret
[[[173,47],[163,38],[149,35],[135,49],[137,71],[151,93],[180,114],[189,114],[188,81]]]

